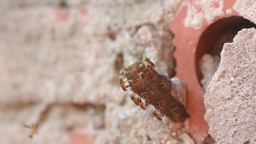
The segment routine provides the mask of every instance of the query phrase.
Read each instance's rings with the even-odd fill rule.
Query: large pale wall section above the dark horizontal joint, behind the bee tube
[[[173,34],[163,3],[89,4],[83,9],[2,11],[0,93],[8,97],[0,97],[1,104],[120,103],[124,94],[114,68],[118,53],[125,65],[147,56],[161,74],[173,75]],[[116,32],[115,40],[108,38],[108,27]]]

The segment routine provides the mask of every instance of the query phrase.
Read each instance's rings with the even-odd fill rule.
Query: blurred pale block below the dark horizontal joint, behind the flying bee
[[[98,135],[96,129],[102,127],[104,109],[79,109],[73,105],[51,106],[47,112],[45,105],[1,107],[1,143],[69,143],[68,133],[75,128],[88,128],[89,137]],[[18,111],[17,111],[18,109]],[[38,134],[28,137],[30,130],[22,124],[39,123]],[[94,131],[94,133],[92,133]],[[12,139],[11,137],[14,137]]]

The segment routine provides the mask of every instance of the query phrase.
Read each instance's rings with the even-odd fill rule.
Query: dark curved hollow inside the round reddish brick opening
[[[255,23],[240,16],[231,16],[212,23],[202,33],[196,48],[196,72],[199,82],[202,80],[200,59],[205,54],[220,56],[224,43],[231,43],[238,31],[243,28],[256,28]]]

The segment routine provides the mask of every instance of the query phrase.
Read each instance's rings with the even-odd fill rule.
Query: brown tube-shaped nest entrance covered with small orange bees
[[[153,115],[159,120],[165,115],[173,122],[184,122],[189,114],[181,101],[173,97],[172,83],[166,76],[158,74],[149,58],[120,71],[119,84],[136,105],[143,110],[154,106]]]

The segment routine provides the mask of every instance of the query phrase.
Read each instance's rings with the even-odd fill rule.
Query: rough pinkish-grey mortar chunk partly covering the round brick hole
[[[223,46],[204,95],[205,119],[217,143],[256,142],[256,30],[242,29]]]

